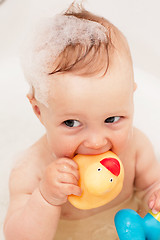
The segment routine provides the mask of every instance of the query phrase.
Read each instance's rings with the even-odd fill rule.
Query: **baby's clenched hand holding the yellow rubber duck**
[[[68,195],[81,195],[78,180],[77,163],[69,158],[61,158],[46,168],[39,189],[48,203],[62,205],[67,201]]]

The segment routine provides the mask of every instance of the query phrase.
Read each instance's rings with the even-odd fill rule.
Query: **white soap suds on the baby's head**
[[[77,43],[92,46],[107,41],[106,28],[94,21],[56,15],[39,22],[26,41],[22,56],[24,74],[34,89],[35,98],[47,106],[48,75],[67,46]]]

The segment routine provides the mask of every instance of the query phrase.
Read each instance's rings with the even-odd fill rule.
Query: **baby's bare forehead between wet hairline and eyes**
[[[131,111],[133,90],[122,79],[120,83],[115,84],[114,79],[105,77],[59,76],[51,84],[50,112],[58,119],[86,121],[124,116]]]

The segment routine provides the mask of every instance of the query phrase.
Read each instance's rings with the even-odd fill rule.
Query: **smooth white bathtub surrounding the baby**
[[[13,1],[12,3],[10,1],[6,1],[6,3],[4,2],[2,5],[4,8],[3,16],[5,16],[5,11],[7,8],[11,8],[13,12],[13,9],[16,8],[16,4],[18,6],[18,4],[22,4],[22,2],[22,0],[16,0],[15,5],[13,5]],[[33,2],[35,3],[35,1]],[[43,2],[43,0],[40,2]],[[62,4],[64,1],[59,2]],[[157,4],[157,7],[154,5],[155,11],[159,9],[159,1],[153,0],[152,5],[147,5],[146,8],[147,12],[153,12],[153,18],[151,18],[150,21],[152,21],[151,24],[153,25],[153,33],[157,34],[155,35],[155,40],[151,39],[151,37],[146,39],[146,23],[144,23],[144,21],[141,22],[142,26],[143,24],[145,26],[145,29],[142,29],[142,31],[139,29],[137,30],[135,25],[132,28],[133,20],[138,26],[138,21],[141,17],[140,10],[142,9],[143,1],[137,1],[137,3],[134,3],[134,6],[129,6],[128,0],[123,0],[121,2],[121,6],[118,7],[119,12],[117,8],[114,9],[114,4],[120,4],[119,0],[113,1],[113,4],[110,3],[110,6],[106,9],[106,12],[104,12],[103,8],[103,4],[106,4],[106,1],[101,0],[98,2],[101,3],[101,6],[99,5],[99,7],[96,7],[96,1],[93,1],[92,4],[91,1],[88,1],[88,8],[91,8],[92,11],[98,12],[99,14],[102,12],[106,18],[109,16],[109,19],[123,30],[129,40],[133,61],[135,63],[135,81],[138,85],[138,88],[135,92],[134,125],[144,131],[149,137],[153,143],[156,156],[158,160],[160,160],[160,134],[158,132],[160,124],[160,52],[159,50],[156,51],[156,46],[159,46],[158,44],[160,42],[160,36],[157,31],[154,32],[154,29],[156,28],[154,25],[156,14],[151,11],[154,5],[153,2]],[[138,6],[139,8],[137,10]],[[22,6],[22,13],[25,11],[29,12],[29,9],[30,7],[28,5],[25,9]],[[114,11],[109,11],[108,9]],[[127,28],[127,26],[124,27],[124,18],[122,18],[122,16],[123,11],[124,14],[126,14],[126,12],[129,14],[128,10],[130,13],[130,19],[127,19],[127,26],[130,27]],[[2,11],[3,9],[0,6],[0,13],[2,13]],[[23,24],[25,24],[26,18],[28,17],[28,12],[25,12],[25,15],[21,13],[21,16],[19,16],[22,21],[19,20],[19,24],[21,25],[18,25],[19,29],[16,29],[16,34],[18,34],[17,36],[19,37],[18,39],[21,37],[22,27]],[[147,12],[143,12],[144,19],[146,21]],[[137,14],[136,19],[134,13]],[[4,22],[2,21],[3,16],[0,15],[0,29],[2,22]],[[25,20],[24,16],[26,17]],[[120,18],[118,18],[118,16]],[[11,18],[9,18],[9,20],[11,21]],[[15,21],[16,26],[18,21],[16,19]],[[13,19],[12,22],[14,27]],[[6,29],[2,28],[2,31],[3,30],[5,34]],[[13,32],[13,29],[11,30]],[[141,41],[143,40],[142,43],[144,42],[144,44],[139,41],[136,43],[136,31],[138,31],[138,34],[142,35],[143,39],[141,38]],[[0,52],[2,53],[0,56],[0,239],[4,239],[2,234],[2,225],[8,205],[8,177],[9,172],[14,165],[15,156],[18,152],[28,147],[44,134],[44,129],[34,116],[30,104],[26,98],[28,85],[24,80],[17,57],[17,49],[20,40],[17,42],[15,36],[12,39],[12,43],[9,43],[9,41],[6,43],[5,39],[3,38],[0,39]],[[149,59],[147,58],[148,56],[150,57]]]

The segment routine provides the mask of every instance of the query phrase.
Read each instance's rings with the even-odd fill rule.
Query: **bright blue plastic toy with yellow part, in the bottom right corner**
[[[134,210],[123,209],[114,221],[120,240],[160,240],[160,212],[149,211],[141,218]]]

